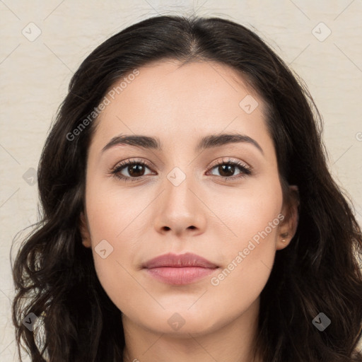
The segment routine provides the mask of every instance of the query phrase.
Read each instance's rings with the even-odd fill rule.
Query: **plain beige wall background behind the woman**
[[[71,75],[119,30],[157,13],[193,12],[254,27],[304,79],[325,120],[329,167],[362,223],[361,0],[0,0],[1,361],[18,361],[10,315],[11,242],[37,220],[31,177]]]

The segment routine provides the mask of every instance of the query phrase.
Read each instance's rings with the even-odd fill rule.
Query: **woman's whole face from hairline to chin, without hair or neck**
[[[290,229],[264,105],[222,64],[160,62],[130,78],[95,121],[83,245],[128,320],[180,335],[219,329],[257,310],[292,236],[281,242]],[[117,169],[125,161],[134,165]]]

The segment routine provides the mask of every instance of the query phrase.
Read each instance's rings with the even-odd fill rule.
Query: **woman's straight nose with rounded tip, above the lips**
[[[164,191],[156,204],[154,226],[157,232],[178,237],[203,233],[207,208],[191,176],[177,186],[166,177],[163,186]]]

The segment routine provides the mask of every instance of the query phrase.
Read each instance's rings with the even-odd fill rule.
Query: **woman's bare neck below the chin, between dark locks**
[[[145,329],[123,315],[124,362],[197,361],[261,362],[253,357],[257,337],[259,298],[223,327],[206,334],[177,336]]]

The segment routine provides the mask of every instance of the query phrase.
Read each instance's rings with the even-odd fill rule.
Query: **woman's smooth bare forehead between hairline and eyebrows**
[[[137,70],[105,95],[109,104],[94,137],[99,147],[117,134],[156,134],[183,144],[198,134],[220,132],[243,132],[261,142],[268,137],[262,99],[229,66],[163,61]]]

